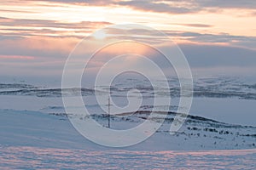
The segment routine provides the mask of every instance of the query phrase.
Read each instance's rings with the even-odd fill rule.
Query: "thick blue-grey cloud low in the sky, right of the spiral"
[[[218,45],[180,44],[192,67],[256,66],[256,50]]]

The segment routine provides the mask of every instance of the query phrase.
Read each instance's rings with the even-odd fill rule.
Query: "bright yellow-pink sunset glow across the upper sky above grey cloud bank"
[[[256,10],[253,7],[252,1],[218,4],[213,1],[8,0],[0,3],[0,55],[12,59],[11,56],[32,56],[38,62],[43,59],[63,63],[84,37],[106,26],[123,23],[151,26],[180,45],[242,48],[254,53]],[[94,37],[101,42],[108,33],[98,32]],[[111,34],[119,32],[111,31]]]

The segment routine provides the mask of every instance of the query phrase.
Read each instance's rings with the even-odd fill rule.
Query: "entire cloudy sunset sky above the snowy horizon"
[[[78,42],[124,23],[165,32],[194,75],[256,73],[253,0],[6,0],[0,3],[0,78],[61,77]]]

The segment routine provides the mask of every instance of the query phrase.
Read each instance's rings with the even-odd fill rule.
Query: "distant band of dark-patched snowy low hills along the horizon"
[[[114,82],[111,91],[113,96],[126,96],[127,91],[132,88],[137,88],[144,97],[153,98],[154,94],[157,97],[172,96],[179,97],[180,87],[177,78],[170,78],[170,94],[167,93],[166,87],[162,86],[162,81],[155,80],[158,86],[153,88],[146,80],[126,79]],[[108,87],[96,87],[96,90],[106,93]],[[95,89],[87,88],[45,88],[35,87],[28,84],[0,84],[0,95],[31,95],[38,97],[61,97],[74,96],[82,94],[90,96],[95,94]],[[256,99],[256,83],[243,82],[234,77],[212,77],[198,78],[194,80],[194,97],[197,98],[237,98],[237,99]]]

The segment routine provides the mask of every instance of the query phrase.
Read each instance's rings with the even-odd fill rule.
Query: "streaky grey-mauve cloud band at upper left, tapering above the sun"
[[[82,21],[78,23],[63,23],[56,20],[27,20],[0,17],[0,25],[9,27],[1,29],[1,39],[3,39],[3,37],[15,38],[32,36],[76,37],[80,39],[83,38],[81,37],[81,34],[83,33],[84,35],[86,35],[87,33],[95,30],[96,28],[108,26],[111,24],[112,23],[106,21]],[[37,29],[33,29],[33,27],[36,27]],[[56,31],[55,28],[62,28],[63,30]]]

